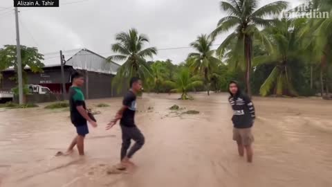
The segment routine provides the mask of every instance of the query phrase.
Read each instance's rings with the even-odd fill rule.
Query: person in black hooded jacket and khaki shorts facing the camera
[[[252,147],[254,141],[251,127],[255,121],[255,107],[246,94],[243,94],[236,81],[229,84],[230,98],[228,98],[233,109],[232,122],[233,140],[237,141],[239,155],[243,157],[244,149],[246,149],[247,161],[252,162]]]

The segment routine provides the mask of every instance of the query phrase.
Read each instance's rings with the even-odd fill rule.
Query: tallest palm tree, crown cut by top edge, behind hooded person
[[[273,25],[275,19],[265,19],[264,17],[279,14],[288,5],[287,1],[276,1],[257,9],[258,2],[258,0],[221,1],[221,10],[228,12],[229,15],[220,19],[218,26],[212,32],[212,36],[216,37],[216,35],[236,27],[234,32],[228,35],[219,46],[217,53],[223,54],[225,50],[231,49],[233,55],[243,54],[242,58],[246,62],[246,89],[249,96],[251,96],[250,71],[253,39],[258,39],[268,48],[271,47],[268,38],[259,32],[257,26]]]

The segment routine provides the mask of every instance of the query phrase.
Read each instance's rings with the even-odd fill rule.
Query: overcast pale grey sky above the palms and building
[[[12,0],[0,0],[0,47],[15,42]],[[137,28],[157,48],[187,47],[201,33],[211,33],[225,16],[220,0],[59,0],[59,8],[19,8],[21,44],[42,53],[88,48],[105,57],[112,54],[115,35]],[[261,0],[260,6],[275,0]],[[291,0],[291,5],[299,0]],[[5,9],[8,8],[8,9]],[[220,35],[215,44],[220,44]],[[161,50],[154,60],[182,62],[190,48]],[[56,53],[45,56],[46,64]],[[66,57],[68,58],[68,57]],[[49,61],[49,62],[48,62]]]

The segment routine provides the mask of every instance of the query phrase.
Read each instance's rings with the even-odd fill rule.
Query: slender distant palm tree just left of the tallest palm
[[[208,96],[210,95],[210,79],[214,69],[221,61],[214,57],[215,50],[212,50],[213,39],[208,35],[200,35],[192,46],[198,53],[190,53],[190,66],[196,73],[203,73],[205,87],[208,89]]]

